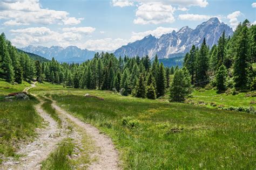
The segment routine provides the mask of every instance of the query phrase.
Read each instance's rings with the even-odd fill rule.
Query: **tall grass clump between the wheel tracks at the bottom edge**
[[[72,139],[64,139],[56,150],[53,151],[49,157],[42,162],[41,169],[73,169],[68,155],[72,155],[74,147],[75,145],[72,143]]]

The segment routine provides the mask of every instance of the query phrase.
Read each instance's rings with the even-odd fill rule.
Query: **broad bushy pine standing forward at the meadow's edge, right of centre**
[[[190,82],[186,81],[183,70],[179,69],[174,73],[170,88],[170,98],[173,102],[183,102],[190,94]]]

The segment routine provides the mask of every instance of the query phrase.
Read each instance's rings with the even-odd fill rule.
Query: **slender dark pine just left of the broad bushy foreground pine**
[[[156,84],[157,84],[157,97],[164,96],[166,77],[165,77],[165,69],[164,69],[163,62],[161,62],[159,70],[158,70]]]

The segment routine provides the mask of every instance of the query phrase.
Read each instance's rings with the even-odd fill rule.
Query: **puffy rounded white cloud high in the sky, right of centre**
[[[136,11],[136,19],[133,20],[134,24],[160,24],[160,23],[173,23],[175,11],[171,5],[165,5],[159,2],[143,3]]]

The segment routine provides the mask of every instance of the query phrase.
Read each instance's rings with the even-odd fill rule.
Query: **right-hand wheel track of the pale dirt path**
[[[115,150],[109,137],[100,133],[97,128],[68,114],[68,112],[58,107],[55,101],[53,101],[52,107],[55,108],[59,114],[65,115],[70,119],[70,121],[78,125],[80,128],[83,128],[98,148],[97,152],[91,155],[91,157],[97,157],[98,160],[96,162],[92,162],[92,164],[89,165],[89,169],[120,169],[118,167],[118,152]]]

